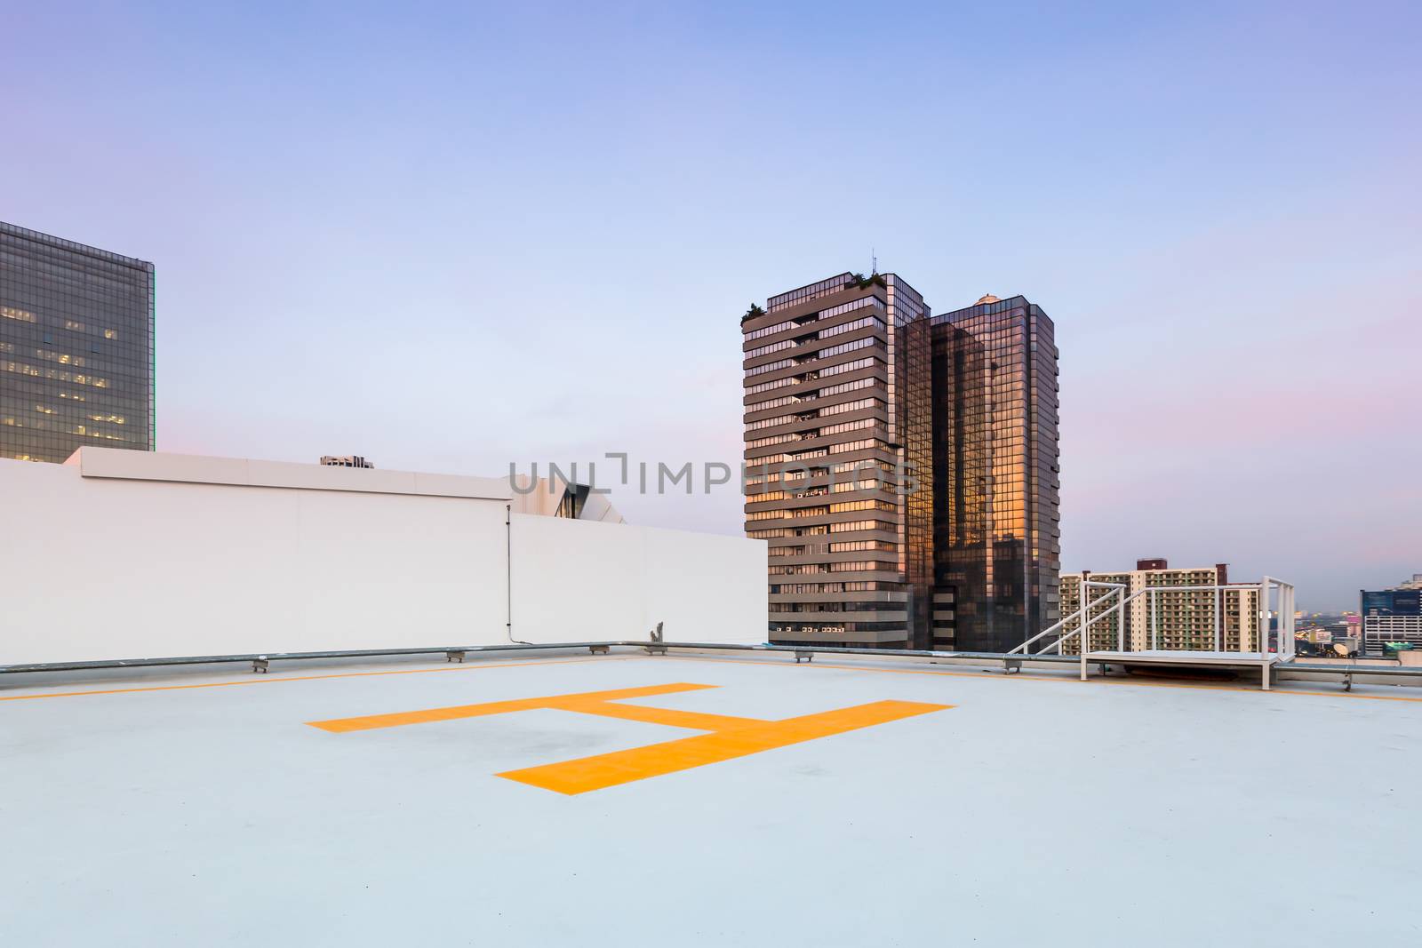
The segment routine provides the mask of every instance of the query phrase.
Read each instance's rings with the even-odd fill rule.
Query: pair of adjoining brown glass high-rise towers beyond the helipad
[[[936,317],[896,274],[842,273],[741,327],[772,641],[1001,651],[1057,620],[1045,313],[985,297]]]

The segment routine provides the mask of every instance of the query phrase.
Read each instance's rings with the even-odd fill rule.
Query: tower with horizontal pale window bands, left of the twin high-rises
[[[893,490],[921,397],[929,314],[894,274],[842,273],[774,296],[742,320],[747,534],[769,540],[771,637],[903,645],[907,499]],[[913,327],[913,358],[904,358]],[[927,442],[920,453],[931,463]],[[914,564],[927,580],[927,559]]]

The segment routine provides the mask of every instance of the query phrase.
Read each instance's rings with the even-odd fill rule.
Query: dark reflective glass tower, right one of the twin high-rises
[[[1008,651],[1059,618],[1052,330],[1020,296],[933,317],[934,584],[954,593],[960,651]]]

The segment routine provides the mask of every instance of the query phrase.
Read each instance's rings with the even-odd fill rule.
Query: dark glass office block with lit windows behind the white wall
[[[0,458],[154,449],[154,264],[0,222]]]

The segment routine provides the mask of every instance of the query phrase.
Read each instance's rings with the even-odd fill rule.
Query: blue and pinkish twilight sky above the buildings
[[[155,262],[161,451],[737,463],[739,314],[873,247],[1055,320],[1064,569],[1422,571],[1415,3],[208,6],[0,4],[0,219]]]

